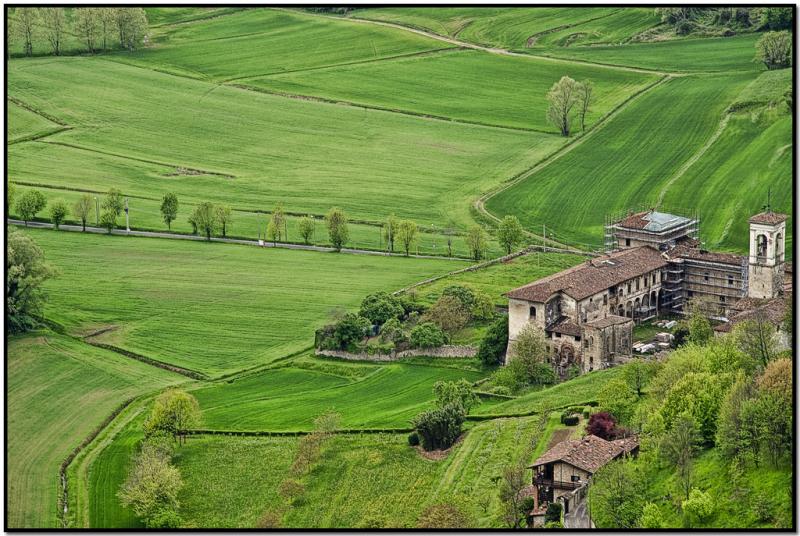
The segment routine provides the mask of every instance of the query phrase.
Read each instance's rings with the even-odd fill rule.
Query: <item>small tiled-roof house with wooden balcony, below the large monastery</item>
[[[532,526],[542,524],[547,505],[552,502],[560,502],[564,513],[568,514],[584,497],[577,491],[584,488],[601,467],[638,452],[636,436],[607,441],[587,435],[554,445],[529,466],[533,471],[532,485],[526,491],[533,497],[529,523]]]

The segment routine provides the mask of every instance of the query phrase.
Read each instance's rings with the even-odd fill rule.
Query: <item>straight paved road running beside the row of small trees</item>
[[[9,224],[13,225],[24,225],[25,222],[21,220],[8,220]],[[32,221],[28,222],[28,227],[33,227],[36,229],[52,229],[52,223],[45,223],[39,221]],[[73,231],[73,232],[80,232],[81,226],[80,225],[66,225],[62,224],[59,229],[62,231]],[[107,234],[108,231],[101,227],[90,227],[86,226],[87,233],[96,233],[96,234]],[[160,231],[125,231],[124,229],[114,229],[111,231],[111,234],[115,235],[123,235],[123,236],[143,236],[147,238],[171,238],[175,240],[198,240],[198,241],[205,241],[205,237],[196,236],[196,235],[185,235],[180,233],[167,233],[167,232],[160,232]],[[241,238],[219,238],[219,237],[212,237],[212,242],[224,242],[227,244],[244,244],[247,246],[260,246],[258,240],[245,240]],[[260,247],[268,247],[268,248],[284,248],[284,249],[300,249],[305,251],[321,251],[324,253],[330,253],[336,251],[334,248],[324,247],[324,246],[307,246],[305,244],[286,244],[286,243],[277,243],[273,244],[271,242],[264,242],[263,246]],[[369,249],[356,249],[356,248],[342,248],[342,253],[349,253],[351,255],[378,255],[378,256],[391,256],[391,257],[405,257],[403,253],[389,253],[386,251],[373,251]],[[447,259],[447,260],[455,260],[455,261],[467,261],[466,259],[461,259],[458,257],[445,257],[443,255],[414,255],[411,254],[409,257],[414,257],[417,259]]]

